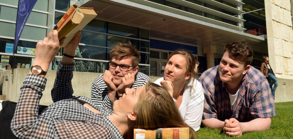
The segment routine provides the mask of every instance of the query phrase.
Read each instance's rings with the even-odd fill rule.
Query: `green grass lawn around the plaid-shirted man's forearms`
[[[271,128],[267,131],[243,133],[240,138],[289,139],[293,138],[293,102],[275,103],[277,115],[272,117]],[[222,130],[201,128],[196,132],[197,138],[237,138],[225,135]]]

